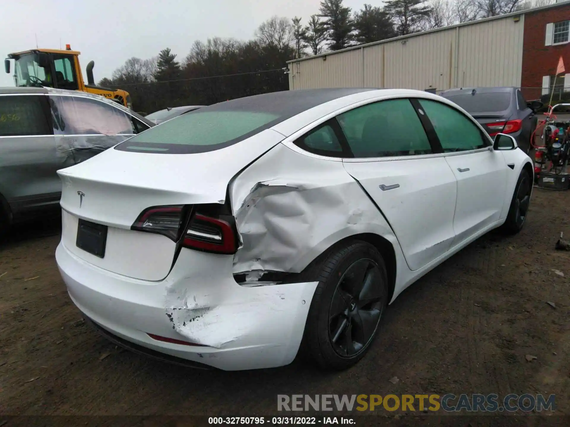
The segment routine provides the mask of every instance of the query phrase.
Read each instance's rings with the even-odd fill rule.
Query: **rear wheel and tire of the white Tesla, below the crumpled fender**
[[[353,240],[316,262],[308,276],[319,284],[302,352],[321,368],[347,369],[372,345],[388,305],[384,260],[372,245]]]

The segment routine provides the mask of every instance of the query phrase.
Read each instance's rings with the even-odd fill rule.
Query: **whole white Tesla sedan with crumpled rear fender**
[[[437,95],[315,89],[201,108],[59,175],[59,270],[108,338],[199,367],[303,351],[343,369],[407,286],[523,227],[533,169]]]

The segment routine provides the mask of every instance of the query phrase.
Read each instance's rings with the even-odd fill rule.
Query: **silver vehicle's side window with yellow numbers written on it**
[[[51,135],[44,95],[0,96],[0,136]]]

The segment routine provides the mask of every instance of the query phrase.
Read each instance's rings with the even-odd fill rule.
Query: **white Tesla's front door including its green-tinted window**
[[[503,155],[459,110],[442,102],[419,100],[435,129],[445,160],[457,179],[452,245],[499,220],[507,182]]]

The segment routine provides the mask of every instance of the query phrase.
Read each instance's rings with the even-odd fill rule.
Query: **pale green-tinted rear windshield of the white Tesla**
[[[272,126],[279,115],[266,112],[197,110],[150,128],[115,147],[121,151],[205,153],[227,147]]]

